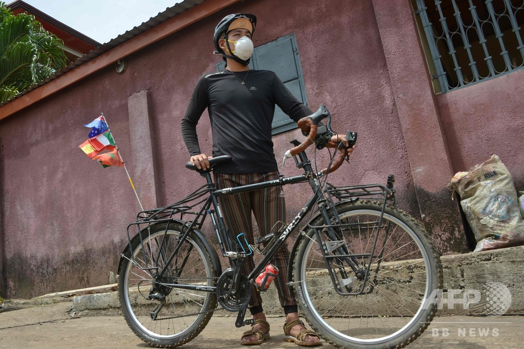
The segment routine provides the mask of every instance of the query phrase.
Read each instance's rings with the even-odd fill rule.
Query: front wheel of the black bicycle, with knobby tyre
[[[367,238],[373,235],[378,224],[364,223],[377,222],[381,206],[381,202],[372,200],[336,206],[342,223],[357,223],[342,228],[343,239],[352,253],[370,252],[369,240],[364,235]],[[388,237],[384,239],[386,229],[379,232],[374,253],[378,256],[384,250],[378,273],[375,270],[378,258],[369,268],[370,277],[364,288],[369,294],[341,296],[336,292],[313,229],[305,233],[298,247],[293,262],[297,301],[311,327],[336,347],[401,348],[414,341],[435,316],[433,292],[442,289],[442,265],[433,242],[413,217],[390,205],[386,205],[381,227],[387,227],[387,223],[390,223]],[[319,218],[312,225],[323,222]],[[321,234],[325,235],[325,231]],[[367,261],[362,256],[357,260],[364,262],[362,265]],[[344,271],[348,270],[351,273],[346,276],[356,275],[345,266]],[[352,291],[359,290],[362,280],[357,279],[350,286]]]

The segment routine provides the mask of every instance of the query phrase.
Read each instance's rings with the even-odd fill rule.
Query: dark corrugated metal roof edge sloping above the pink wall
[[[24,92],[21,92],[20,94],[16,95],[16,97],[14,97],[13,99],[7,100],[6,102],[0,104],[0,107],[5,105],[5,104],[7,104],[7,103],[9,103],[9,102],[12,102],[13,100],[19,98],[20,96],[25,95],[26,93],[31,92],[35,88],[38,88],[38,87],[40,87],[42,85],[47,84],[48,82],[56,79],[60,75],[63,75],[65,73],[75,69],[79,65],[82,65],[85,62],[89,62],[89,61],[91,61],[92,59],[94,59],[96,57],[99,57],[100,55],[104,54],[105,52],[115,48],[119,44],[121,44],[123,42],[126,42],[129,39],[132,39],[132,38],[136,37],[137,35],[143,33],[144,31],[149,30],[149,29],[151,29],[151,28],[161,24],[162,22],[165,22],[166,20],[168,20],[168,19],[170,19],[170,18],[172,18],[172,17],[174,17],[174,16],[184,12],[187,9],[190,9],[191,7],[193,7],[195,5],[203,3],[204,1],[205,0],[183,0],[182,2],[176,4],[176,5],[172,6],[172,7],[166,8],[166,10],[164,12],[158,13],[158,15],[156,15],[155,17],[149,18],[148,21],[143,22],[141,25],[136,26],[133,29],[127,30],[125,33],[117,36],[116,38],[114,38],[114,39],[112,39],[112,40],[110,40],[110,41],[108,41],[108,42],[106,42],[104,44],[102,44],[102,46],[100,46],[100,47],[90,51],[89,53],[83,55],[81,58],[79,58],[79,59],[75,60],[74,62],[70,63],[68,66],[63,67],[63,69],[61,69],[60,71],[54,73],[53,75],[48,77],[46,80],[43,80],[43,81],[39,82],[38,84],[36,84],[36,85],[34,85],[32,87],[29,87]]]

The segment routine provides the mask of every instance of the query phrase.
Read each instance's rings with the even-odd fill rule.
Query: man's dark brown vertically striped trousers
[[[231,188],[278,179],[278,172],[215,173],[214,177],[218,188]],[[223,195],[219,197],[219,204],[226,227],[234,234],[234,237],[231,238],[235,239],[236,235],[245,232],[249,244],[254,243],[252,212],[261,236],[278,231],[281,224],[276,223],[278,221],[286,221],[286,204],[282,187],[280,186],[258,189],[247,193]],[[275,282],[280,305],[284,308],[285,313],[296,312],[297,302],[290,287],[286,285],[288,283],[289,251],[285,244],[275,253],[271,263],[279,269]],[[249,258],[244,265],[246,266],[246,274],[249,274],[255,267],[253,258]],[[252,297],[249,301],[251,313],[256,314],[263,311],[262,299],[255,286],[252,287],[251,295]]]

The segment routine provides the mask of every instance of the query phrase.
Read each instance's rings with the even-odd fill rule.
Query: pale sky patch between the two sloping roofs
[[[4,0],[6,4],[14,0]],[[24,0],[43,13],[105,43],[181,0]]]

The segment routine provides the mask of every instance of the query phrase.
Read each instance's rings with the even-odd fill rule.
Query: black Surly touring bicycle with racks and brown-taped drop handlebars
[[[324,118],[327,125],[320,122]],[[252,324],[244,320],[250,285],[309,212],[312,217],[291,250],[288,285],[305,319],[325,341],[340,348],[403,347],[428,327],[436,312],[431,295],[442,288],[440,257],[424,228],[396,208],[394,176],[386,186],[326,182],[347,155],[342,143],[329,142],[334,133],[328,109],[321,105],[299,126],[308,138],[293,140],[285,160],[293,157],[303,174],[216,189],[210,172],[231,157],[215,157],[210,169],[199,171],[206,184],[172,205],[139,212],[128,225],[128,245],[118,266],[119,299],[140,339],[161,347],[187,343],[204,329],[217,303],[238,312],[236,327]],[[346,137],[354,144],[356,133]],[[335,149],[322,171],[313,171],[304,152],[313,143],[319,150]],[[186,167],[198,171],[190,163]],[[289,224],[252,245],[245,234],[227,231],[219,196],[304,182],[313,195]],[[220,253],[230,262],[225,271],[201,231],[208,216]],[[134,229],[138,233],[132,238]],[[242,264],[254,253],[261,261],[249,275],[242,274]]]

